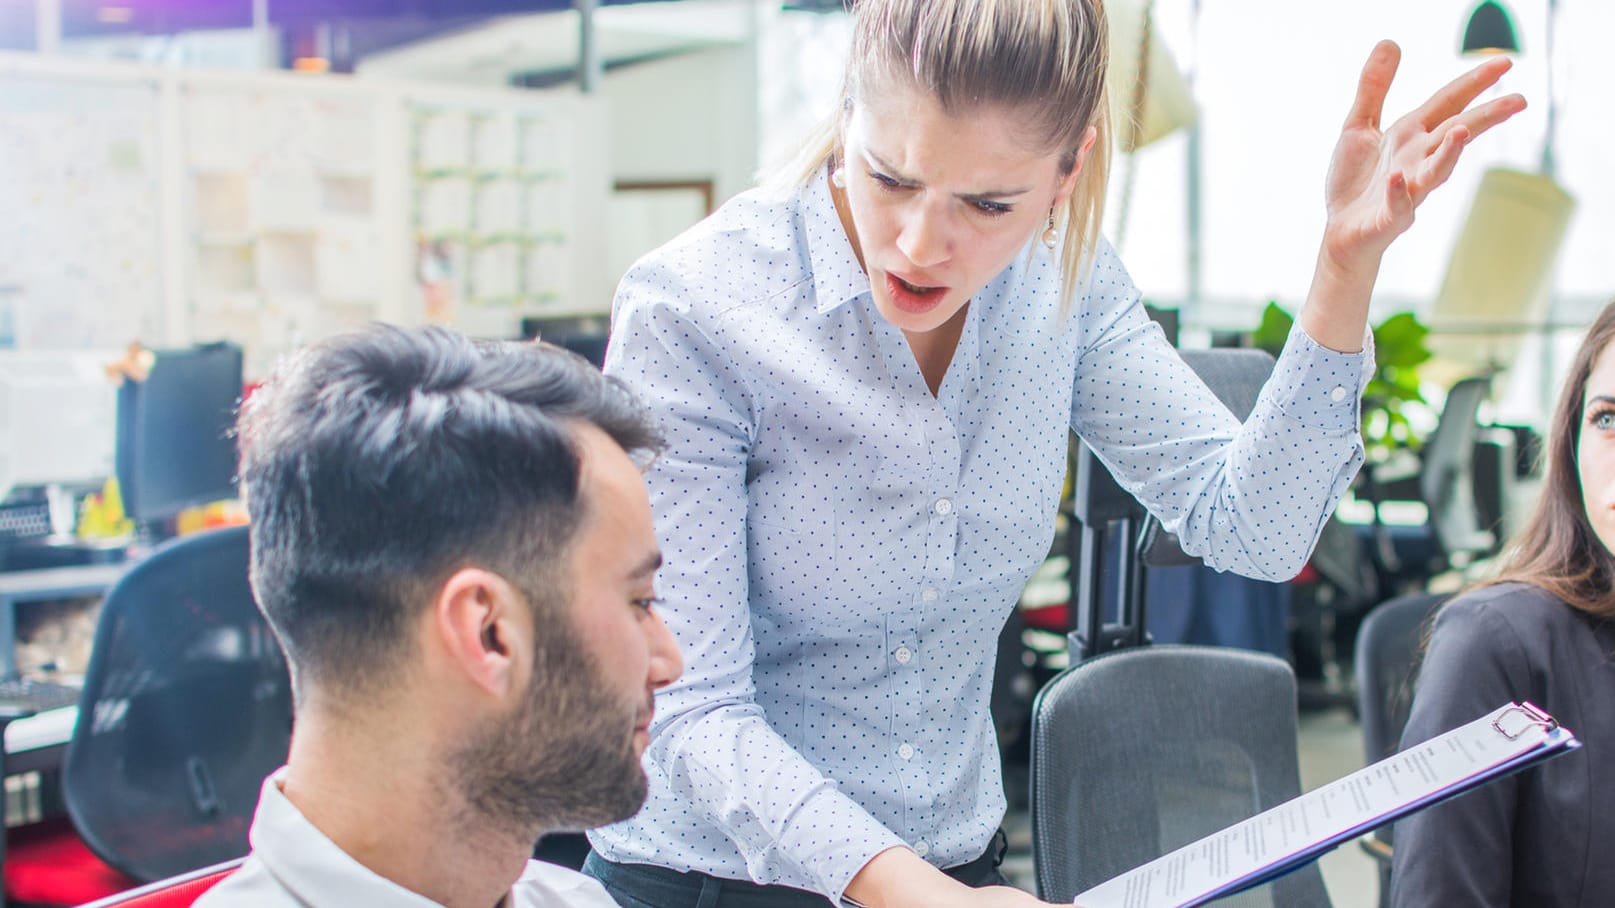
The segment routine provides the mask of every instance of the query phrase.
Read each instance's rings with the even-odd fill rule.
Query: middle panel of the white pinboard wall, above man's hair
[[[357,86],[187,79],[178,89],[186,313],[197,339],[242,343],[249,375],[383,317],[376,123]]]

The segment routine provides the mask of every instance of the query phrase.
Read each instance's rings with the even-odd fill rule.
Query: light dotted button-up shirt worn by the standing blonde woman
[[[649,801],[591,834],[602,856],[832,900],[893,845],[977,858],[1005,811],[995,643],[1050,551],[1069,430],[1208,564],[1300,570],[1361,464],[1373,357],[1297,330],[1240,427],[1108,244],[1069,312],[1058,288],[1029,246],[932,396],[824,176],[623,278],[606,370],[669,438],[648,483],[686,669],[657,695]]]

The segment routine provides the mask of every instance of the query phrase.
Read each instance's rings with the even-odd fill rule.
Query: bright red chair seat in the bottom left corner
[[[139,885],[97,858],[66,818],[6,830],[5,897],[82,905]]]

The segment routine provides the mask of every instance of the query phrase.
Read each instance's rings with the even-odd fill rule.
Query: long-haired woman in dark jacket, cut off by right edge
[[[1392,905],[1615,905],[1615,304],[1565,380],[1536,515],[1436,617],[1408,748],[1529,700],[1586,746],[1397,824]]]

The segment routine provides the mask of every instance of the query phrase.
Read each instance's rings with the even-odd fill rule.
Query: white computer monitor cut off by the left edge
[[[113,473],[115,351],[0,351],[0,501],[13,488],[95,486]]]

